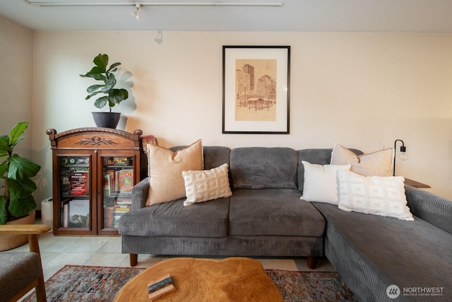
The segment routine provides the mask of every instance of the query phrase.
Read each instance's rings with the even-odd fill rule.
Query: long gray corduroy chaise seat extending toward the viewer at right
[[[328,260],[352,291],[359,292],[362,280],[368,280],[366,289],[380,295],[360,294],[363,301],[386,301],[386,288],[391,284],[401,291],[444,287],[441,301],[452,301],[452,291],[446,291],[452,289],[452,234],[417,216],[415,221],[403,221],[313,204],[327,221]],[[400,300],[406,298],[413,297],[400,295]],[[417,298],[423,301],[425,297]]]

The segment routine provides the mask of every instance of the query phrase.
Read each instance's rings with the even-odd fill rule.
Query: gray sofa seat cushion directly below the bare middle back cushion
[[[325,220],[294,189],[237,189],[231,197],[231,236],[323,235]]]

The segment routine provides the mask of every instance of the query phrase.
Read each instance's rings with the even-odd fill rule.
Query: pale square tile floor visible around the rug
[[[37,221],[37,223],[39,223]],[[53,236],[44,233],[39,238],[44,279],[47,280],[64,265],[95,265],[105,267],[129,267],[129,255],[121,253],[121,237]],[[28,244],[6,252],[28,251]],[[172,257],[172,256],[171,256]],[[167,259],[163,256],[138,255],[137,267],[150,267]],[[222,259],[222,257],[215,257]],[[264,269],[285,269],[311,271],[306,258],[275,259],[255,258]],[[315,271],[333,272],[333,265],[326,259],[319,259]]]

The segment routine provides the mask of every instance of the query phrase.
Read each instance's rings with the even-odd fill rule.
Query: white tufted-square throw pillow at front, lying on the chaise
[[[414,220],[405,197],[402,176],[362,176],[338,170],[339,209]]]

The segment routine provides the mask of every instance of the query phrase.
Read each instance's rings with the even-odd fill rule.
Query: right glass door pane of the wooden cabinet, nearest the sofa
[[[117,228],[132,206],[133,156],[105,156],[102,162],[103,228]]]

